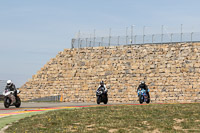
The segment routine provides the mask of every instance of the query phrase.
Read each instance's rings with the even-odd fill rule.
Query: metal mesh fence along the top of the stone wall
[[[148,34],[132,36],[107,36],[73,38],[71,48],[99,47],[99,46],[120,46],[132,44],[162,44],[178,42],[199,42],[200,33],[170,33],[170,34]]]

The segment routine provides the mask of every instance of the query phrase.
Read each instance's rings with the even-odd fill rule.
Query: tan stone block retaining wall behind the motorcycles
[[[200,101],[200,43],[65,49],[20,90],[23,100],[61,95],[65,102],[95,102],[104,80],[109,102],[138,102],[144,80],[151,101]]]

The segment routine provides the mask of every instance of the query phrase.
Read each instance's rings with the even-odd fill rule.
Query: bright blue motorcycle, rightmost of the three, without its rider
[[[149,92],[149,89],[147,91]],[[138,97],[140,104],[142,104],[143,102],[146,102],[147,104],[150,103],[150,97],[147,95],[145,89],[138,90]]]

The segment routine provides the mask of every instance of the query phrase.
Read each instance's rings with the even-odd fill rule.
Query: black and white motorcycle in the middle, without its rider
[[[103,102],[104,104],[108,103],[108,96],[107,96],[107,92],[104,92],[104,88],[100,87],[99,89],[97,89],[96,91],[96,96],[97,96],[97,104],[100,104],[101,102]]]

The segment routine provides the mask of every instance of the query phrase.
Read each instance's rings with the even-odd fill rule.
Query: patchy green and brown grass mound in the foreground
[[[200,104],[99,106],[24,118],[6,132],[200,132]]]

